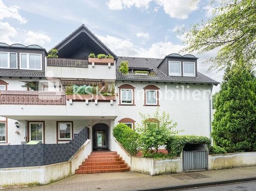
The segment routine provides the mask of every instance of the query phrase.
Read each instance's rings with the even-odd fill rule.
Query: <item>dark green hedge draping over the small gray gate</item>
[[[167,141],[165,149],[168,151],[168,154],[172,157],[177,157],[181,155],[183,148],[186,144],[207,144],[210,146],[211,139],[203,136],[178,136],[174,135],[169,138]]]

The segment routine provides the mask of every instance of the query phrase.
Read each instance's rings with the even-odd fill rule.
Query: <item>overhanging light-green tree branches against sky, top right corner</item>
[[[199,53],[218,48],[212,67],[224,68],[226,63],[256,59],[256,0],[222,0],[214,16],[207,22],[192,26],[186,33],[184,51]]]

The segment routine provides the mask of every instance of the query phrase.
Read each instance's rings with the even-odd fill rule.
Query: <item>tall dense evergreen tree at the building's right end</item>
[[[243,61],[226,69],[215,107],[215,144],[229,153],[256,151],[256,77]]]

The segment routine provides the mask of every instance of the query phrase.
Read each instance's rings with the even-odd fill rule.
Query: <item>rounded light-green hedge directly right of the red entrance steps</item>
[[[138,153],[139,134],[124,123],[119,123],[113,129],[113,135],[133,156]]]

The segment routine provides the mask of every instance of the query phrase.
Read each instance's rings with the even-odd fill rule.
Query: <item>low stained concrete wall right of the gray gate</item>
[[[256,166],[256,152],[212,154],[208,159],[209,170]]]

